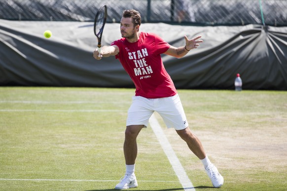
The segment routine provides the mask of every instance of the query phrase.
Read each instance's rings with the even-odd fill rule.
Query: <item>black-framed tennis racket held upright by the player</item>
[[[98,38],[98,52],[101,53],[102,47],[102,34],[107,21],[107,5],[101,6],[95,17],[94,33]]]

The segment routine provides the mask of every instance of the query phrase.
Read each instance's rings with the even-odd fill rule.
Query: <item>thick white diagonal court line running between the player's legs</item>
[[[170,142],[166,138],[162,128],[160,127],[158,121],[156,120],[154,114],[149,119],[149,124],[156,135],[161,147],[163,148],[167,158],[169,159],[176,175],[179,178],[179,182],[181,183],[184,191],[195,191],[194,186],[189,180],[184,168],[182,167],[177,155],[175,154]]]

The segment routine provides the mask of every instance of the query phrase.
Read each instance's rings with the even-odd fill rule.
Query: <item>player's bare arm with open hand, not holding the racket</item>
[[[198,40],[201,36],[197,36],[192,39],[188,39],[187,36],[184,36],[185,46],[174,47],[170,46],[170,48],[164,53],[176,58],[182,58],[185,56],[191,49],[197,48],[199,46],[198,43],[203,42],[203,40]]]

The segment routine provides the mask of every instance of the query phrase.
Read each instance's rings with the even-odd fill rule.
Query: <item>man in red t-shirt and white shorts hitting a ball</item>
[[[213,186],[223,185],[223,177],[208,159],[200,140],[188,127],[179,95],[174,83],[164,68],[161,54],[181,58],[191,49],[197,48],[201,36],[185,38],[185,46],[174,47],[154,33],[139,32],[141,15],[138,11],[124,10],[120,22],[122,38],[103,46],[101,54],[94,51],[94,58],[115,56],[136,86],[136,95],[128,110],[125,131],[124,156],[126,174],[115,189],[129,189],[138,186],[135,175],[137,157],[137,136],[154,111],[163,118],[167,127],[174,127],[179,136],[187,143],[189,149],[201,159]]]

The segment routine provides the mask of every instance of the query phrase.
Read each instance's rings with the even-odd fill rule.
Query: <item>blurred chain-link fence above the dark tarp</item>
[[[0,0],[0,19],[93,21],[104,3],[108,22],[135,8],[149,23],[287,26],[287,0]]]

